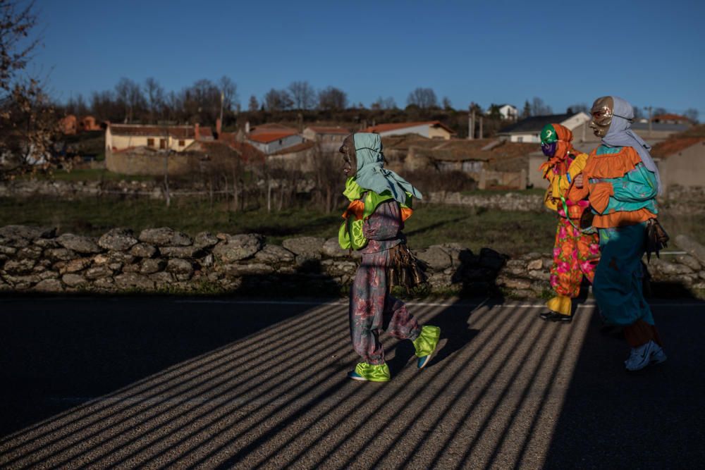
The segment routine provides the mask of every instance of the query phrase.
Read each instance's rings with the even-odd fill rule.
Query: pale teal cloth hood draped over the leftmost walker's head
[[[357,158],[355,182],[360,187],[377,194],[388,191],[394,199],[402,204],[406,202],[407,192],[417,199],[422,199],[421,192],[411,183],[393,171],[384,168],[382,141],[379,134],[361,132],[353,134],[353,140]]]

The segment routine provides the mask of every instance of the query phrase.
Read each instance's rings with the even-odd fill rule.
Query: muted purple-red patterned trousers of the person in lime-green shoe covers
[[[380,331],[402,340],[415,340],[421,332],[404,302],[388,293],[388,262],[389,250],[363,253],[350,288],[350,338],[367,364],[384,364]]]

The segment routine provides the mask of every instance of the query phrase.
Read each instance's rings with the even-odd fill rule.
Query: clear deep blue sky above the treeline
[[[228,75],[243,107],[308,80],[369,106],[431,87],[456,109],[563,112],[615,94],[705,120],[705,2],[37,0],[58,101],[154,77],[167,90]]]

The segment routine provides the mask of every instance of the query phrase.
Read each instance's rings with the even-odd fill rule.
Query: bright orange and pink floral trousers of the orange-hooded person
[[[577,297],[582,276],[592,282],[599,258],[599,238],[596,233],[582,233],[573,227],[570,219],[558,218],[551,266],[551,287],[558,295]]]

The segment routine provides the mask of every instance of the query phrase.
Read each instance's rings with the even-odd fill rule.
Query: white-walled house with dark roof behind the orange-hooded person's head
[[[546,124],[560,124],[572,130],[573,139],[579,142],[584,142],[587,135],[592,135],[591,130],[587,128],[590,122],[590,116],[582,111],[580,113],[565,113],[565,114],[550,114],[546,116],[531,116],[518,121],[515,124],[508,125],[501,129],[497,136],[502,140],[520,143],[541,143],[541,129]]]

